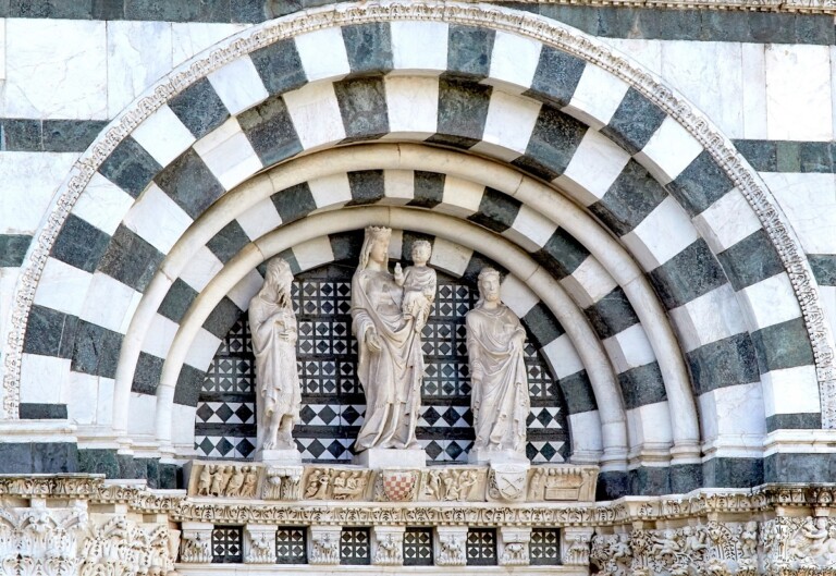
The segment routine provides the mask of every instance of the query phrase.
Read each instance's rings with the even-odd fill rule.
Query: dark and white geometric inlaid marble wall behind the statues
[[[349,266],[298,274],[293,285],[299,324],[297,368],[303,405],[294,431],[306,462],[347,462],[364,421],[362,389],[351,333]],[[474,440],[465,315],[477,291],[444,278],[423,330],[427,369],[418,440],[428,462],[467,462]],[[207,371],[196,410],[195,446],[202,456],[246,458],[256,443],[255,361],[242,315]],[[526,346],[532,408],[527,454],[532,462],[562,462],[567,425],[558,387],[537,348]]]

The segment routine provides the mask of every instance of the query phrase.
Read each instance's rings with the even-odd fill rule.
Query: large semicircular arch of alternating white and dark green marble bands
[[[432,236],[431,264],[456,278],[480,258],[508,271],[573,454],[611,474],[610,495],[778,479],[763,458],[792,452],[787,430],[829,426],[806,259],[681,98],[508,9],[305,19],[196,57],[79,160],[27,255],[7,410],[65,404],[79,448],[185,456],[259,265],[345,258],[339,234],[374,223]]]

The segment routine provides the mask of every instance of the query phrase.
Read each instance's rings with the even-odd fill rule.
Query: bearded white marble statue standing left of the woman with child
[[[267,262],[261,290],[249,302],[249,328],[258,383],[257,453],[296,451],[293,425],[299,421],[296,371],[296,316],[291,301],[293,273],[282,258]]]

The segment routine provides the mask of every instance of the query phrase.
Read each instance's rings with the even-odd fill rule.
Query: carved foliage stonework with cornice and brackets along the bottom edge
[[[5,494],[30,497],[28,507],[0,511],[4,573],[173,576],[177,561],[212,561],[214,524],[236,524],[246,528],[247,563],[274,562],[271,525],[299,525],[311,527],[312,564],[339,563],[341,527],[373,526],[374,563],[398,565],[403,527],[431,525],[438,528],[437,565],[458,566],[466,564],[467,527],[481,525],[499,527],[503,565],[525,566],[527,526],[548,525],[562,528],[565,566],[591,563],[606,576],[836,574],[836,518],[829,517],[834,487],[765,486],[754,493],[634,497],[600,505],[447,503],[405,508],[335,501],[323,506],[239,500],[224,504],[217,499],[202,504],[145,487],[106,486],[100,478],[60,480],[52,487],[60,490],[45,498],[42,482],[0,479]],[[66,498],[90,486],[93,494]],[[114,501],[126,506],[101,506]],[[182,530],[177,522],[184,523]]]

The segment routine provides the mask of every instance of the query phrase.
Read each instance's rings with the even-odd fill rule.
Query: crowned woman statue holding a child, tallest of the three
[[[368,449],[420,449],[415,428],[420,417],[423,354],[417,322],[426,321],[419,298],[431,303],[427,258],[409,271],[409,286],[420,292],[404,314],[405,279],[398,284],[388,269],[392,230],[369,226],[360,262],[352,280],[352,329],[357,338],[357,376],[366,392],[366,419],[356,452]],[[417,250],[422,257],[425,248]],[[434,277],[434,273],[432,274]],[[411,287],[409,290],[413,290]],[[434,289],[433,289],[434,296]],[[419,314],[414,314],[419,312]]]

